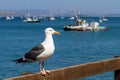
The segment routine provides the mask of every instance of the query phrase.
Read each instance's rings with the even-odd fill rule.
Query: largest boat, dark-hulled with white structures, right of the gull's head
[[[98,31],[107,30],[104,26],[99,26],[98,22],[91,22],[90,25],[85,19],[77,19],[76,24],[67,25],[63,28],[65,31]]]

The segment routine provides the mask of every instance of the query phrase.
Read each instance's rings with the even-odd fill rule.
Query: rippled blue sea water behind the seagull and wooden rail
[[[98,21],[98,17],[85,18],[88,22]],[[41,20],[41,23],[25,23],[20,18],[7,21],[0,19],[0,80],[19,76],[22,72],[39,72],[39,64],[15,64],[20,58],[44,40],[44,29],[52,27],[61,34],[53,35],[56,50],[45,62],[46,69],[57,69],[88,62],[110,59],[120,55],[120,17],[108,17],[108,22],[100,23],[109,30],[75,32],[64,31],[63,26],[74,24],[68,18],[56,21]],[[81,80],[113,80],[113,72],[107,72]]]

